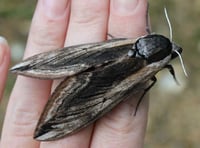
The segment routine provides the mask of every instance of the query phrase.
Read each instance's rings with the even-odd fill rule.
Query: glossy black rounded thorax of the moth
[[[153,63],[171,55],[175,47],[178,48],[178,46],[173,45],[165,36],[151,34],[136,41],[134,56],[144,58],[148,63]]]

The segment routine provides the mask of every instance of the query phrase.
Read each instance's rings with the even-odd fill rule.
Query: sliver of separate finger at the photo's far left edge
[[[10,50],[8,43],[3,37],[0,37],[0,99],[3,97],[9,64]]]

